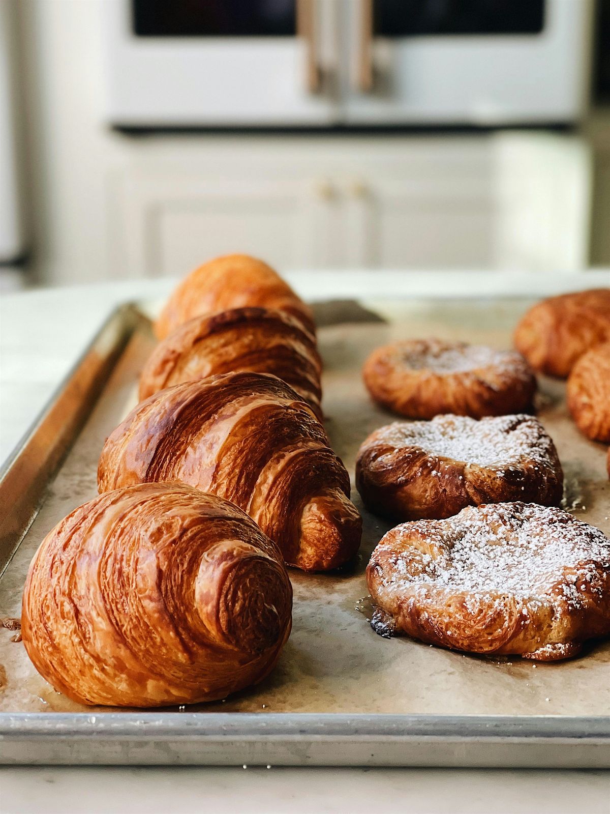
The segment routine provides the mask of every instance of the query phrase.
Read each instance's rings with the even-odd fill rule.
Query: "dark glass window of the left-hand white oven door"
[[[132,0],[139,37],[294,37],[294,0]]]

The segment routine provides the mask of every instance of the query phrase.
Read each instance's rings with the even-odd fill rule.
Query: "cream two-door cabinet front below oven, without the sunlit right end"
[[[184,274],[225,252],[285,270],[493,263],[487,136],[211,138],[153,152],[115,176],[129,274]]]

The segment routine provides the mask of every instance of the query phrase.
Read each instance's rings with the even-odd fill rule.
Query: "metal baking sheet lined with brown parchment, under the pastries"
[[[351,474],[360,442],[393,420],[361,383],[370,350],[431,335],[508,347],[528,305],[318,306],[326,427]],[[137,308],[115,313],[5,468],[0,566],[12,558],[0,580],[0,617],[20,615],[42,537],[97,494],[98,454],[136,404],[137,374],[153,344]],[[605,449],[577,432],[563,383],[540,385],[538,414],[564,465],[567,504],[608,534]],[[294,628],[277,668],[224,702],[179,711],[81,707],[38,676],[23,644],[0,628],[2,763],[610,766],[610,642],[571,661],[537,664],[378,637],[367,621],[364,567],[388,526],[353,497],[364,516],[358,558],[333,574],[290,571]]]

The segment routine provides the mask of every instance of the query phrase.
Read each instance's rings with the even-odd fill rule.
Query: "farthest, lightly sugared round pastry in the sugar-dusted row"
[[[363,375],[374,400],[407,418],[520,413],[536,391],[534,374],[518,353],[440,339],[377,348]]]

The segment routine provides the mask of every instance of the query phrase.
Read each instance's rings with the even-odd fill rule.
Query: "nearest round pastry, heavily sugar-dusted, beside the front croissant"
[[[468,506],[403,523],[373,551],[367,581],[381,635],[555,661],[610,634],[610,540],[555,507]]]

